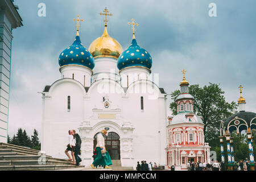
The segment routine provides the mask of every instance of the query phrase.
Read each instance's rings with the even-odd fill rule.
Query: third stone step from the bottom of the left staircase
[[[5,156],[0,156],[0,161],[1,160],[38,160],[38,158],[40,158],[40,155],[5,155]],[[57,159],[57,158],[52,158],[51,156],[46,156],[46,160],[57,160],[60,162],[72,163],[71,161],[68,161],[68,159]]]

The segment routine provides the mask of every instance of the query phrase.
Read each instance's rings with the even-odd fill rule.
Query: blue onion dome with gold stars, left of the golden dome
[[[59,56],[59,65],[81,65],[90,69],[94,68],[94,59],[91,53],[81,44],[79,35],[71,46],[64,49]]]

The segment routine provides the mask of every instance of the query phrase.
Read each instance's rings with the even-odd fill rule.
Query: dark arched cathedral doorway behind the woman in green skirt
[[[94,140],[93,140],[93,148],[95,148],[97,144],[96,135],[94,136]],[[117,133],[110,132],[108,133],[108,137],[104,136],[104,139],[105,139],[106,150],[109,152],[111,159],[119,160],[120,159],[119,135]]]

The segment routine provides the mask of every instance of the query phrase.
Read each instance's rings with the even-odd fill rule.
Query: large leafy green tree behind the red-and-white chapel
[[[209,83],[203,88],[198,84],[189,86],[189,93],[195,98],[194,113],[203,117],[205,142],[216,147],[219,145],[219,127],[221,119],[227,118],[236,112],[236,102],[226,102],[224,91],[218,84]],[[180,90],[171,93],[174,100],[170,104],[170,109],[174,115],[177,114],[176,98],[179,96]]]

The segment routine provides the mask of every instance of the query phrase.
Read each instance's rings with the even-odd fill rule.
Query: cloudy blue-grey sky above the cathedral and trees
[[[246,110],[256,111],[256,1],[233,0],[15,0],[23,27],[13,30],[9,135],[18,127],[32,134],[41,130],[42,92],[60,78],[58,57],[75,38],[77,14],[80,38],[86,48],[104,30],[105,7],[114,14],[109,20],[110,36],[123,49],[132,33],[127,22],[139,26],[137,42],[150,52],[152,72],[167,93],[179,89],[181,69],[190,84],[220,84],[226,100],[237,101],[238,86],[244,87]],[[46,4],[46,17],[38,16],[39,3]],[[216,3],[217,17],[210,17],[209,3]],[[169,99],[168,102],[171,102]],[[171,113],[170,113],[171,114]]]

